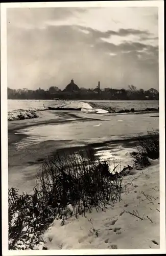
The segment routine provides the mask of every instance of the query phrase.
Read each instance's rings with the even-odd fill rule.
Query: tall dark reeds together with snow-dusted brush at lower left
[[[48,158],[37,178],[32,195],[9,189],[9,249],[45,249],[41,234],[54,219],[63,225],[67,218],[85,215],[92,207],[105,209],[121,198],[121,176],[112,175],[91,150]]]

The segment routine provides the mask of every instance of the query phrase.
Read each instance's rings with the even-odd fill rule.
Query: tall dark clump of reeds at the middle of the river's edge
[[[92,207],[105,208],[109,202],[119,199],[121,181],[109,171],[108,165],[94,160],[91,150],[86,155],[74,153],[53,156],[43,162],[38,171],[43,197],[57,208],[57,218],[84,214]]]

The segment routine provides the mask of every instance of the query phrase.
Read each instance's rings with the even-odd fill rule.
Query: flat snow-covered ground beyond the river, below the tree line
[[[135,110],[145,110],[147,107],[156,107],[158,108],[158,101],[91,101],[94,104],[94,107],[89,104],[90,101],[79,101],[79,100],[8,100],[8,121],[19,120],[19,115],[25,117],[25,119],[35,118],[35,111],[42,111],[52,107],[64,107],[64,108],[82,108],[84,113],[98,113],[98,114],[107,114],[108,111],[104,110],[108,107],[115,108],[117,110],[122,110],[124,108],[130,109],[131,106]],[[139,106],[139,107],[138,107]],[[125,113],[129,114],[129,113]]]

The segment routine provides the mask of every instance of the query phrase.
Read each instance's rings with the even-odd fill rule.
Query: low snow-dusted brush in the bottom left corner
[[[46,220],[53,216],[53,209],[48,207],[45,216],[44,201],[37,193],[36,189],[33,195],[19,195],[15,188],[8,191],[9,250],[33,249],[37,245],[41,248],[41,243],[43,248],[45,247],[40,235],[43,229],[49,226]],[[50,221],[53,220],[52,217]]]

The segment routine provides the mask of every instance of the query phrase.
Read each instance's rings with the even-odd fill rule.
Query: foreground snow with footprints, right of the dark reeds
[[[155,161],[157,163],[157,161]],[[159,249],[159,164],[123,178],[122,200],[104,211],[53,224],[43,235],[54,249]]]

